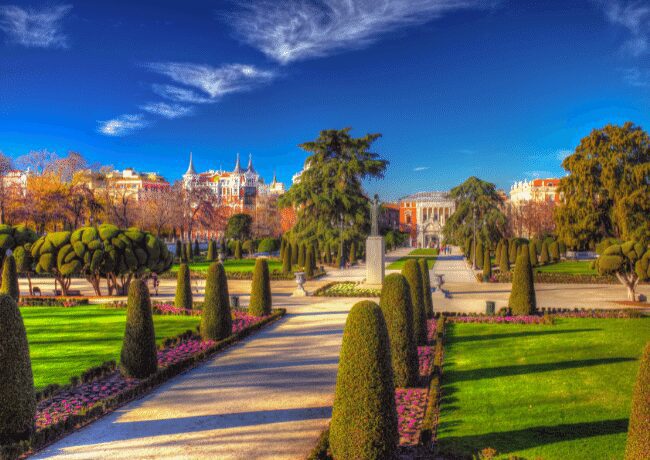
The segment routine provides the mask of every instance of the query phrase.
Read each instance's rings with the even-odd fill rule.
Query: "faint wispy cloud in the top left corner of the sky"
[[[26,47],[66,48],[68,38],[61,31],[72,5],[21,8],[0,5],[0,30],[10,42]]]

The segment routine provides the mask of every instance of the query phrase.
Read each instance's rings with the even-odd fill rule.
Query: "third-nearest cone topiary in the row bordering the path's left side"
[[[226,271],[219,262],[210,264],[205,279],[205,301],[201,314],[203,340],[222,340],[232,334],[230,298]]]

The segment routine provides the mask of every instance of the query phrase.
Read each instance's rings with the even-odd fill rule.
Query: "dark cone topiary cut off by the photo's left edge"
[[[14,299],[0,295],[0,444],[29,438],[36,400],[25,324]]]

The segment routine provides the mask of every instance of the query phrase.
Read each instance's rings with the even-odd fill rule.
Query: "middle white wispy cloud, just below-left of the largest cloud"
[[[228,93],[248,90],[255,85],[270,81],[275,76],[272,71],[244,64],[212,67],[182,62],[160,62],[148,64],[147,68],[166,75],[176,83],[198,89],[209,95],[211,99],[219,98]],[[169,93],[170,98],[176,97],[175,100],[180,100],[179,96],[194,97],[196,95],[196,93],[179,92],[178,90],[183,90],[183,88],[176,86],[166,85],[164,87],[165,91],[170,89],[172,90],[172,93]]]

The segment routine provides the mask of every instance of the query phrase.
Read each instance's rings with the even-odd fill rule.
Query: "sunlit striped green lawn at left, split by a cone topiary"
[[[68,383],[92,366],[119,361],[124,336],[125,310],[100,306],[24,307],[34,383],[37,389],[50,383]],[[200,318],[154,316],[156,339],[194,329]]]

